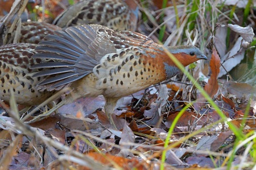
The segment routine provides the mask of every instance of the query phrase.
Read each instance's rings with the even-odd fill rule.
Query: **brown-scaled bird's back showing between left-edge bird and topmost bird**
[[[7,29],[10,28],[10,25]],[[54,31],[60,30],[57,25],[46,22],[23,22],[19,33],[19,42],[38,44],[47,35],[53,34]],[[11,33],[7,44],[13,44],[15,32]]]

